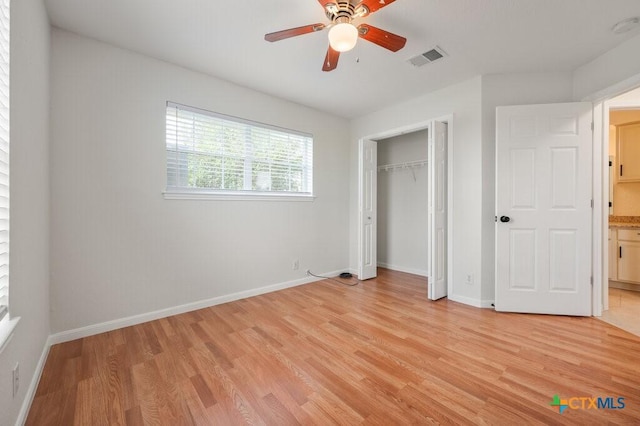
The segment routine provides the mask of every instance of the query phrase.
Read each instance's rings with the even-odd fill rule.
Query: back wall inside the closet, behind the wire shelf
[[[378,141],[378,164],[426,160],[427,130]],[[378,172],[378,265],[427,275],[427,167]]]

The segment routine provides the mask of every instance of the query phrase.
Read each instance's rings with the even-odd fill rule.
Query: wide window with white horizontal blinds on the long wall
[[[166,114],[165,197],[312,198],[311,135],[171,102]]]

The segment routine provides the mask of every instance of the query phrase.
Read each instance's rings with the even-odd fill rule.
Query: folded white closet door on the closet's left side
[[[378,143],[360,141],[359,179],[359,261],[358,278],[367,280],[377,276],[377,199],[378,199]]]

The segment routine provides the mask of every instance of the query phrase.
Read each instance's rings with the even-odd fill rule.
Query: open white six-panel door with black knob
[[[496,310],[591,315],[592,105],[496,121]]]

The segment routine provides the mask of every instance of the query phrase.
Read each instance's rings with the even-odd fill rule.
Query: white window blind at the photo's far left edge
[[[9,2],[0,0],[0,321],[9,313]]]

